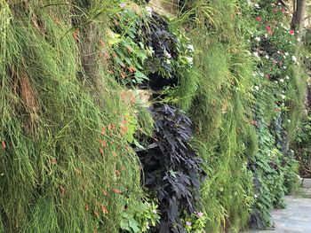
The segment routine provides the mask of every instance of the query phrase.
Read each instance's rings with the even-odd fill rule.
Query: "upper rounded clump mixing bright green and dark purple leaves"
[[[193,66],[194,47],[179,28],[171,28],[170,20],[151,9],[131,2],[120,4],[111,15],[108,43],[113,60],[110,73],[125,84],[163,89],[185,81]],[[185,86],[187,88],[187,86]]]

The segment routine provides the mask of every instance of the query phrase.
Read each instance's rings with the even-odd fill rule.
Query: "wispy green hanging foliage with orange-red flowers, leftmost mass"
[[[0,2],[0,232],[118,232],[143,197],[122,131],[135,113],[98,56],[96,73],[85,68],[76,7],[46,4],[56,2]]]

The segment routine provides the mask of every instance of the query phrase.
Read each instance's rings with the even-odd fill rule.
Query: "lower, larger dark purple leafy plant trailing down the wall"
[[[190,147],[192,123],[171,105],[153,111],[155,134],[140,151],[145,186],[159,201],[161,222],[151,232],[186,232],[184,214],[193,214],[203,176],[202,160]]]

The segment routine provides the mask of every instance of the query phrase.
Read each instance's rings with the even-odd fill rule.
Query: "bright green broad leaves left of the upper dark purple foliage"
[[[121,3],[119,7],[119,11],[111,15],[108,44],[113,52],[106,53],[106,57],[113,60],[110,73],[115,74],[119,82],[137,85],[148,80],[144,63],[153,55],[153,50],[137,40],[142,25],[148,24],[148,15],[131,2]]]

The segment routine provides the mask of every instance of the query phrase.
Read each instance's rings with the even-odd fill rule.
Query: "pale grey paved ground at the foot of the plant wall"
[[[275,229],[244,233],[311,233],[311,189],[302,197],[288,196],[285,201],[285,209],[272,213]]]

